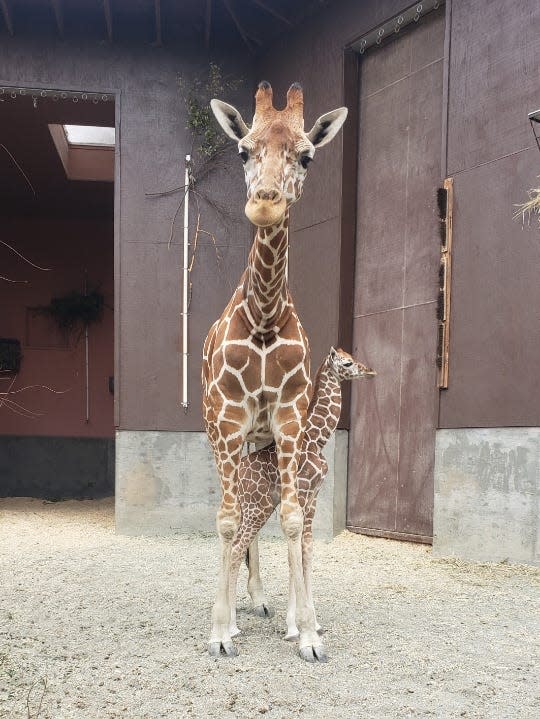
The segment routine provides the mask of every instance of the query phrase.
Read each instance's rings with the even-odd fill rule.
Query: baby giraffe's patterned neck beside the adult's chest
[[[308,408],[306,440],[322,449],[335,432],[341,414],[341,383],[328,358],[317,371]]]

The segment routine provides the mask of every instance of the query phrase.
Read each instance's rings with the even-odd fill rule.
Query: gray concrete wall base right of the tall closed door
[[[540,427],[437,432],[433,553],[540,565]]]

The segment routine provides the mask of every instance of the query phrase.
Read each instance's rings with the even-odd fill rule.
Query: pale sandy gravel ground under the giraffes
[[[215,537],[115,536],[111,500],[0,500],[0,716],[540,716],[538,570],[317,544],[330,662],[309,665],[282,639],[284,543],[261,555],[276,616],[250,615],[242,587],[240,655],[211,659]]]

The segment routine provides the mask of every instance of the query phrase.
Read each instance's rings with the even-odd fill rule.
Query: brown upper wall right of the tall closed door
[[[501,18],[504,17],[504,21]],[[485,29],[489,28],[489,32]],[[440,426],[540,425],[540,236],[512,219],[536,187],[540,5],[454,2],[448,174],[454,177],[450,382]],[[533,314],[531,314],[533,313]]]

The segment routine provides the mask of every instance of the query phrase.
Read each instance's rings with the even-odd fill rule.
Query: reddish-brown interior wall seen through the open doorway
[[[43,271],[0,248],[0,336],[20,340],[22,362],[11,399],[0,409],[0,435],[112,438],[114,374],[114,242],[111,221],[3,218],[2,238]],[[86,422],[85,342],[67,336],[31,308],[55,296],[88,288],[105,298],[103,319],[89,328],[90,421]],[[24,390],[25,387],[38,385]],[[2,380],[2,390],[11,386]],[[53,392],[44,389],[48,387]],[[24,391],[20,391],[24,390]],[[61,394],[57,394],[59,392]],[[35,413],[28,416],[21,407]],[[26,416],[25,416],[26,415]]]

